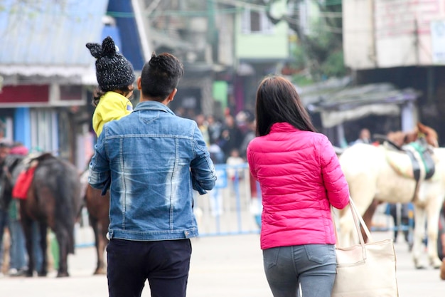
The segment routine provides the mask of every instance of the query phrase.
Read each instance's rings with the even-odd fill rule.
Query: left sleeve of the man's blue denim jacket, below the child
[[[104,133],[102,133],[97,139],[95,155],[93,155],[91,159],[88,174],[88,183],[91,184],[91,187],[102,189],[102,195],[104,192],[107,192],[111,181],[109,161],[105,152],[104,140]]]

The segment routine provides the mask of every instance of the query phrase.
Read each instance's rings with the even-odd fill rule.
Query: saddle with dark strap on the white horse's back
[[[419,182],[419,180],[430,179],[434,175],[437,161],[424,141],[411,142],[398,150],[385,147],[388,164],[402,177]]]

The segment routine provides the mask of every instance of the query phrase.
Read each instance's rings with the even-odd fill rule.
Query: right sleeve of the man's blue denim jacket
[[[207,145],[205,145],[203,134],[196,123],[193,123],[193,125],[195,126],[193,133],[195,158],[191,162],[191,179],[193,189],[202,195],[215,187],[216,172]]]

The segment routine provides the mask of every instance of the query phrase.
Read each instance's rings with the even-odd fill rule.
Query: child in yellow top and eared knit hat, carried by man
[[[129,98],[133,95],[134,70],[124,56],[122,56],[111,37],[99,43],[87,43],[87,48],[96,60],[96,78],[99,86],[95,90],[92,115],[92,127],[99,136],[104,123],[128,115],[133,110]]]

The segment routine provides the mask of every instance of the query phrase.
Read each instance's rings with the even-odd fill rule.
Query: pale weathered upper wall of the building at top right
[[[353,69],[431,66],[445,33],[433,34],[431,23],[445,20],[445,1],[344,0],[345,65]],[[445,23],[444,23],[445,29]],[[435,31],[436,32],[436,31]]]

